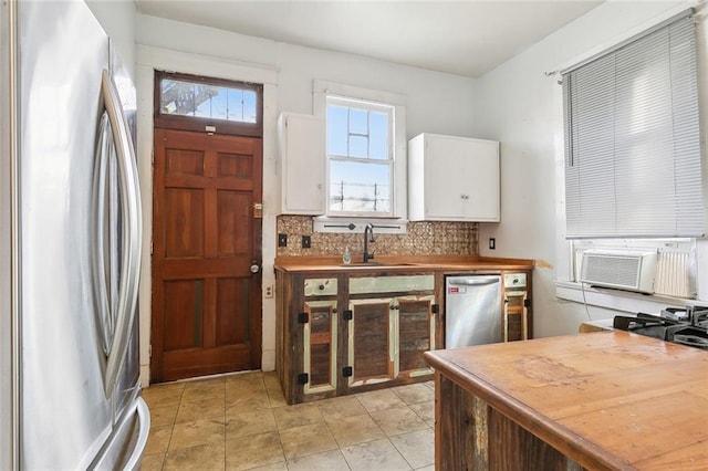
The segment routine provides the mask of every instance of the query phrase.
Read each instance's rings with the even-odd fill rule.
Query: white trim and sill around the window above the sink
[[[393,105],[395,109],[394,138],[394,192],[392,218],[356,218],[322,216],[314,219],[315,232],[360,232],[367,222],[374,223],[377,232],[405,233],[408,218],[407,202],[407,140],[406,140],[406,97],[392,92],[363,88],[326,81],[314,81],[313,112],[314,116],[326,119],[327,94],[344,98],[379,102]],[[327,159],[329,166],[329,159]],[[329,168],[326,174],[329,185]],[[351,224],[354,229],[350,229]]]

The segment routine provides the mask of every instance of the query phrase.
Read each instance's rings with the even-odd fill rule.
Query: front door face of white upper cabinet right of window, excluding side
[[[499,221],[499,143],[429,135],[427,219]]]

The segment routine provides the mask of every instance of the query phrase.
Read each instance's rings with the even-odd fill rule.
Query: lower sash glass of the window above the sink
[[[330,211],[389,212],[391,166],[330,163]]]

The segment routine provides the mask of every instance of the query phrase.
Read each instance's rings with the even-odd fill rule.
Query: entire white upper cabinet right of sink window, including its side
[[[499,222],[499,143],[420,134],[408,142],[412,221]]]

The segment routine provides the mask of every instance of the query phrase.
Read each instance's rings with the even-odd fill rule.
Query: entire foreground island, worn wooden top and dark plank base
[[[612,331],[425,354],[436,470],[706,470],[708,352]]]

